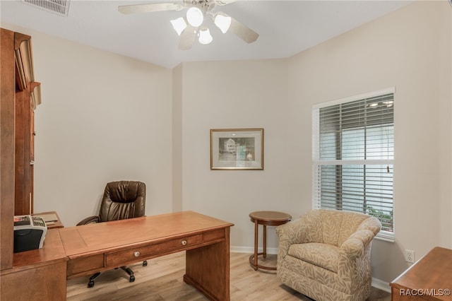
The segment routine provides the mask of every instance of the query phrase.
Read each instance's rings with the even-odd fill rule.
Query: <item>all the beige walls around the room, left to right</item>
[[[105,182],[142,179],[149,215],[228,220],[233,249],[251,252],[251,211],[311,208],[311,106],[395,86],[396,242],[372,252],[389,282],[404,249],[452,247],[451,27],[446,1],[415,3],[288,59],[173,70],[18,29],[42,81],[35,211],[74,225],[97,212]],[[209,129],[245,127],[264,128],[265,170],[210,170]]]

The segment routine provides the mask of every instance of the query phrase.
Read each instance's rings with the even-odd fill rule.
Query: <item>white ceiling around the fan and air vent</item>
[[[189,50],[179,50],[179,36],[169,20],[184,11],[160,11],[123,15],[117,6],[160,3],[148,1],[72,0],[69,16],[43,11],[21,0],[1,0],[1,21],[23,28],[91,45],[117,54],[173,68],[183,61],[225,61],[290,57],[352,28],[405,6],[410,1],[256,1],[242,0],[215,11],[224,11],[255,30],[252,44],[237,36],[222,34],[210,26],[213,42],[197,41]],[[182,1],[168,1],[181,3]]]

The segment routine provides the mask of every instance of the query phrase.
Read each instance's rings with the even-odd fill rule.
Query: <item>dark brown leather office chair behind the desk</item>
[[[102,223],[110,220],[124,220],[126,218],[138,218],[145,216],[146,186],[138,181],[109,182],[105,186],[104,196],[100,204],[98,216],[89,216],[81,220],[77,225],[88,225],[90,223]],[[143,266],[148,262],[143,261]],[[129,281],[135,281],[131,268],[121,266],[121,269],[129,274]],[[93,288],[94,280],[100,272],[90,277],[88,288]]]

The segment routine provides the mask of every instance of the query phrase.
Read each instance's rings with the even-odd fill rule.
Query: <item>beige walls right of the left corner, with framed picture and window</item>
[[[451,11],[412,4],[289,59],[182,64],[184,209],[231,221],[250,252],[249,212],[311,208],[312,105],[395,87],[396,242],[374,241],[374,278],[404,271],[405,249],[452,247]],[[265,129],[265,170],[209,170],[208,130],[240,127]]]

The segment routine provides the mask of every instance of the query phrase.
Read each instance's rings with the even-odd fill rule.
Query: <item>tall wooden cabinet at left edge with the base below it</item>
[[[66,300],[67,257],[56,229],[47,231],[42,249],[13,252],[14,216],[33,213],[40,84],[31,37],[0,30],[0,300]]]

